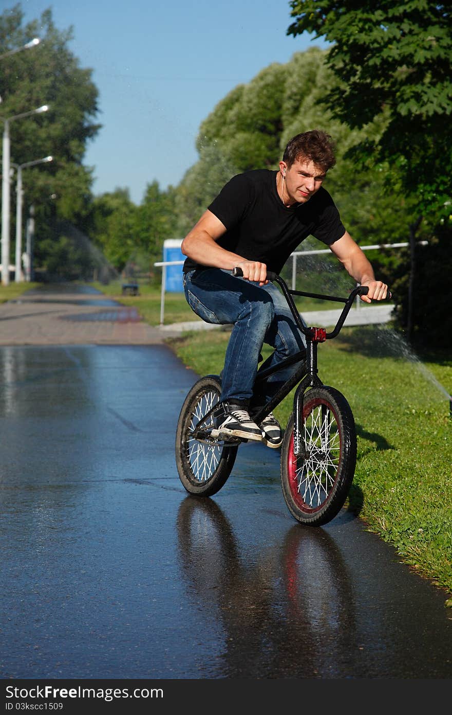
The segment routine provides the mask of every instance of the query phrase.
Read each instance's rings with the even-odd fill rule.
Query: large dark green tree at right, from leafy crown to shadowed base
[[[350,129],[381,122],[382,131],[363,137],[348,152],[385,177],[388,218],[393,214],[394,178],[401,179],[411,209],[411,250],[398,266],[393,287],[400,325],[410,339],[426,330],[448,282],[433,285],[426,266],[447,276],[452,270],[452,35],[451,5],[435,0],[292,0],[288,34],[305,31],[331,42],[326,65],[336,83],[321,99]],[[417,247],[420,232],[430,247]],[[439,327],[436,340],[450,335]],[[422,339],[422,337],[421,337]]]

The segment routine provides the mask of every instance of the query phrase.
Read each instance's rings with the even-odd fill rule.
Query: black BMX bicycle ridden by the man
[[[233,275],[243,274],[240,268],[234,268]],[[343,298],[290,290],[281,276],[270,271],[267,278],[281,288],[297,327],[306,337],[306,360],[304,351],[297,352],[276,366],[262,366],[258,370],[255,385],[288,365],[300,363],[296,373],[252,417],[259,424],[298,385],[281,445],[281,486],[288,511],[296,521],[321,526],[341,510],[353,482],[356,428],[346,398],[336,388],[324,385],[318,376],[317,348],[320,342],[338,335],[356,296],[366,295],[368,287],[358,286]],[[344,303],[333,330],[306,327],[293,295]],[[211,436],[220,395],[219,375],[206,375],[198,380],[186,396],[177,424],[179,478],[189,493],[198,496],[211,496],[224,486],[238,446],[246,441],[226,435]]]

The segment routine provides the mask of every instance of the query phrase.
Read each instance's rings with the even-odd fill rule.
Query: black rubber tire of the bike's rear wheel
[[[182,405],[176,429],[176,466],[179,478],[190,494],[198,496],[211,496],[224,486],[231,474],[238,450],[238,445],[216,446],[215,455],[213,451],[211,452],[215,457],[214,461],[218,462],[213,473],[205,480],[196,478],[189,459],[189,426],[196,404],[200,403],[204,395],[211,392],[218,397],[221,394],[221,380],[218,375],[206,375],[204,378],[200,378],[189,390]],[[209,445],[203,449],[207,452]],[[211,450],[214,450],[214,447]]]

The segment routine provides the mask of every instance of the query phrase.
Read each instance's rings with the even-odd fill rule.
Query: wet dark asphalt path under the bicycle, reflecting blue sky
[[[169,347],[2,345],[0,374],[1,679],[451,678],[447,594],[345,511],[298,526],[277,450],[186,495]]]

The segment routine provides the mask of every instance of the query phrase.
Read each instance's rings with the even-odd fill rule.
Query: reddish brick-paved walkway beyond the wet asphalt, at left
[[[171,331],[165,332],[165,337]],[[0,305],[0,345],[155,345],[158,327],[93,288],[43,285]]]

